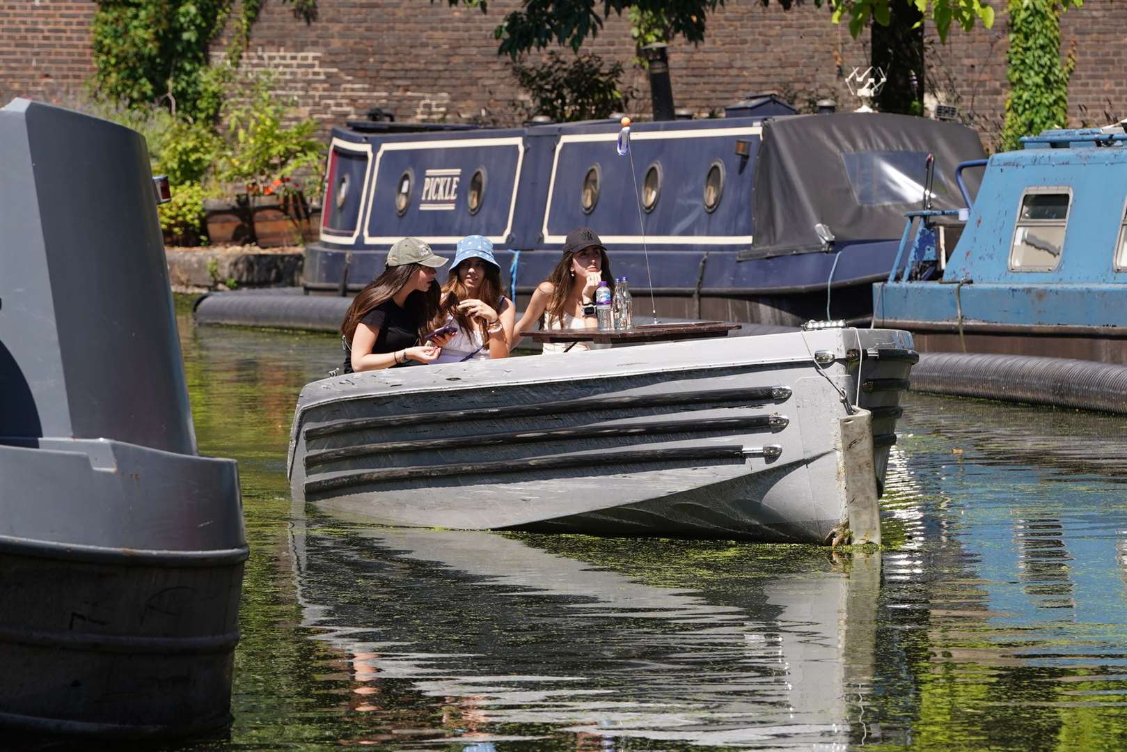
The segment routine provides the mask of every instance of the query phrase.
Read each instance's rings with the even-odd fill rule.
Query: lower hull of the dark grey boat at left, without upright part
[[[113,738],[228,725],[247,558],[234,462],[35,444],[0,446],[0,477],[19,479],[0,494],[0,724]]]

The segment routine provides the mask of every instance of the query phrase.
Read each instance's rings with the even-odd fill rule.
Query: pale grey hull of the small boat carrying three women
[[[850,517],[843,395],[873,412],[879,484],[913,362],[859,350],[911,353],[911,337],[836,329],[328,379],[299,400],[291,487],[389,525],[824,542]]]

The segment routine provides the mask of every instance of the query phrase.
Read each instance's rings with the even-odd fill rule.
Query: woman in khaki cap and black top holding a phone
[[[435,269],[447,260],[416,238],[391,247],[388,268],[360,291],[340,325],[345,373],[438,360],[449,337],[423,338],[438,316]]]

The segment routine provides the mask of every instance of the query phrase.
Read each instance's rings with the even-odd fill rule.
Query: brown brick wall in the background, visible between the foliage
[[[957,105],[987,142],[1001,131],[1009,89],[1004,3],[992,5],[999,10],[994,29],[952,29],[946,45],[929,33],[925,77],[929,94]],[[300,115],[326,129],[362,118],[373,106],[401,121],[521,120],[521,92],[492,38],[518,0],[494,0],[488,15],[450,8],[444,0],[319,0],[318,6],[317,20],[305,24],[291,6],[267,0],[243,56],[247,69],[274,72],[279,90],[298,98]],[[0,0],[0,100],[23,95],[65,103],[80,96],[92,72],[94,9],[92,1]],[[1076,60],[1070,124],[1127,116],[1125,29],[1124,2],[1090,0],[1065,14],[1062,54]],[[223,48],[221,38],[214,54]],[[631,65],[627,21],[612,16],[587,48],[627,67],[624,83],[638,94],[630,109],[648,112],[648,86]],[[867,60],[867,39],[853,41],[810,2],[783,11],[777,3],[727,0],[709,19],[706,42],[678,42],[669,50],[676,105],[701,114],[772,89],[800,107],[823,97],[852,107],[844,77]]]

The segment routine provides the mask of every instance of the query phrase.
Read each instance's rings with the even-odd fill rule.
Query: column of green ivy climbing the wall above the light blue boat
[[[1068,78],[1075,60],[1061,61],[1061,14],[1066,7],[1061,0],[1010,0],[1003,149],[1019,149],[1021,136],[1067,124]]]

